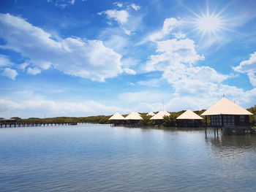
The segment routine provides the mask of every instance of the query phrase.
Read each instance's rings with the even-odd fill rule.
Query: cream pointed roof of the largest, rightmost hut
[[[252,113],[223,97],[201,115],[252,115]]]

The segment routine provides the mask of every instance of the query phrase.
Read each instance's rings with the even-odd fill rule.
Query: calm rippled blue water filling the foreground
[[[256,191],[256,136],[0,128],[0,191]]]

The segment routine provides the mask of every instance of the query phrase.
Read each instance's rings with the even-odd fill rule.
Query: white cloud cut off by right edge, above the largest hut
[[[246,73],[253,86],[256,86],[256,52],[251,54],[249,60],[242,61],[233,68],[236,72]]]

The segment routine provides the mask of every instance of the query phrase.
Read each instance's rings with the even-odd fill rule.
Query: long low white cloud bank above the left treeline
[[[130,109],[116,106],[106,106],[96,101],[67,102],[46,99],[29,99],[25,101],[11,101],[0,99],[0,116],[21,118],[39,117],[86,117],[89,115],[112,115],[115,112],[127,114]]]

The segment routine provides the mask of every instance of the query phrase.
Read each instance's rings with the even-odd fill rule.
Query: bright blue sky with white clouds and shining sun
[[[256,1],[0,1],[0,117],[256,104]]]

